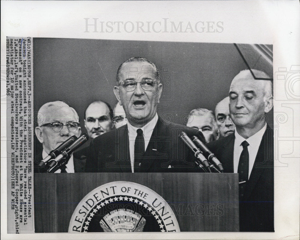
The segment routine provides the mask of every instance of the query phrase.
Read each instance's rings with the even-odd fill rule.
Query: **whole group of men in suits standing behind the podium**
[[[85,110],[88,146],[56,172],[200,172],[181,140],[184,131],[206,143],[224,172],[239,174],[240,231],[274,231],[273,131],[265,113],[273,107],[272,82],[259,70],[243,70],[214,112],[190,111],[187,126],[165,123],[157,114],[162,84],[157,66],[133,57],[117,70],[114,110],[104,101]],[[38,112],[35,129],[43,151],[38,163],[72,135],[81,134],[78,114],[61,101]],[[35,171],[40,171],[38,167]]]

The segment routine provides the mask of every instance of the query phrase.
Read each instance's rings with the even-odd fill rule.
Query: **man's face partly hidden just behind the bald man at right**
[[[217,103],[214,114],[220,136],[227,137],[229,134],[232,134],[235,129],[235,124],[232,122],[229,115],[229,97],[226,97]]]

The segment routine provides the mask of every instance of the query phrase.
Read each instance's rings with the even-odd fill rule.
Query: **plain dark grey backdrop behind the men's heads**
[[[158,114],[179,124],[186,124],[194,108],[214,110],[228,96],[234,76],[247,69],[235,46],[227,43],[34,38],[33,46],[35,114],[46,102],[69,102],[79,115],[82,132],[90,102],[116,104],[116,72],[128,58],[140,56],[157,64],[164,87]],[[273,76],[271,65],[259,70]],[[272,113],[268,123],[273,125]]]

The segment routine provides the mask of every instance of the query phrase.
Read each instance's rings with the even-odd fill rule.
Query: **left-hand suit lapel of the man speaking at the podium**
[[[131,172],[129,137],[127,124],[116,129],[116,150],[115,158],[123,173]]]

